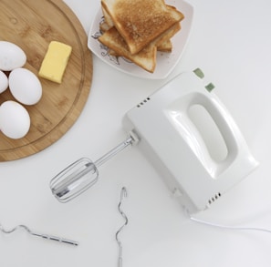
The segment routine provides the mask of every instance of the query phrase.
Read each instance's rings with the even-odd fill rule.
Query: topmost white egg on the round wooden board
[[[0,69],[10,71],[26,64],[26,53],[16,44],[0,41]]]

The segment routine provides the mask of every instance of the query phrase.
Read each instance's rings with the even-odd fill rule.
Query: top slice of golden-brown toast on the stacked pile
[[[131,55],[141,51],[184,17],[163,0],[101,0],[101,5],[125,40]]]

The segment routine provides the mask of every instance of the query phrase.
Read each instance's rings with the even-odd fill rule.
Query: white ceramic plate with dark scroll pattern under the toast
[[[116,56],[110,56],[108,53],[108,47],[99,43],[98,37],[101,35],[99,24],[101,21],[103,21],[101,9],[99,9],[92,22],[92,25],[90,26],[88,41],[89,49],[101,60],[108,63],[111,67],[115,67],[120,71],[132,76],[152,79],[162,79],[168,77],[173,68],[179,62],[183,50],[187,44],[193,23],[193,6],[182,0],[167,0],[166,4],[176,6],[176,8],[184,15],[184,19],[181,22],[181,31],[172,37],[172,52],[157,52],[157,64],[154,73],[149,73],[141,67],[130,63],[129,60],[123,57],[117,58]]]

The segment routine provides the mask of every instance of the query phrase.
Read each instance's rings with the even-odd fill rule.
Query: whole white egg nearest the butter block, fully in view
[[[25,105],[34,105],[42,97],[42,86],[36,75],[30,70],[19,67],[8,77],[9,89],[17,101]]]

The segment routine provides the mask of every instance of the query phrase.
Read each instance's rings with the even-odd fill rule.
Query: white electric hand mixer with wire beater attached
[[[50,183],[57,200],[71,200],[89,189],[99,178],[97,167],[136,144],[188,211],[209,207],[257,166],[234,119],[207,90],[211,86],[203,84],[200,69],[182,73],[130,109],[123,118],[129,138],[96,162],[78,159],[57,174]],[[203,107],[219,129],[227,150],[224,159],[210,155],[189,115],[195,105]]]

